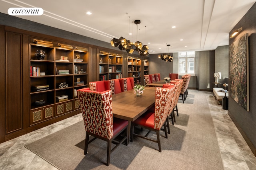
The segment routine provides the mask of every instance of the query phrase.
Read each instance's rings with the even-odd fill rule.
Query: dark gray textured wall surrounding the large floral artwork
[[[243,109],[232,98],[229,98],[228,113],[233,121],[239,127],[244,138],[248,138],[253,146],[248,145],[255,154],[256,147],[256,4],[244,15],[244,17],[236,24],[236,26],[230,31],[231,33],[240,27],[242,31],[233,38],[229,39],[229,44],[239,39],[242,35],[249,34],[249,104],[250,111]],[[230,91],[232,89],[229,89]]]

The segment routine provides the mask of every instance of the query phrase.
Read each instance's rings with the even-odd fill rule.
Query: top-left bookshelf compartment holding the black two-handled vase
[[[44,60],[38,60],[35,53],[37,53],[37,50],[44,51],[45,57]],[[42,46],[38,44],[31,44],[30,45],[30,59],[31,60],[38,60],[38,61],[54,61],[54,48],[53,47],[47,47]]]

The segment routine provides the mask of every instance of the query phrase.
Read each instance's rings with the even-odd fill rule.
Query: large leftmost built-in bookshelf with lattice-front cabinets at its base
[[[88,47],[49,41],[29,47],[30,125],[80,109],[74,91],[88,86]]]

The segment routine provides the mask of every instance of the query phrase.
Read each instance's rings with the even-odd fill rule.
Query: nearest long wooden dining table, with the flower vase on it
[[[156,88],[145,87],[141,96],[136,96],[134,90],[112,96],[113,116],[128,120],[128,139],[130,139],[131,122],[155,105],[155,94]]]

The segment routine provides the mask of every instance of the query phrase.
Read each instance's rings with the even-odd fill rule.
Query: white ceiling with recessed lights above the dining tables
[[[106,42],[121,36],[132,42],[138,40],[148,45],[152,54],[214,50],[228,45],[228,33],[254,2],[256,0],[0,0],[0,12],[8,14],[8,9],[13,7],[42,8],[42,16],[19,17]],[[88,11],[92,15],[87,15]],[[141,23],[136,25],[132,23],[134,20]],[[129,32],[133,35],[128,35]],[[169,49],[166,43],[171,45]]]

